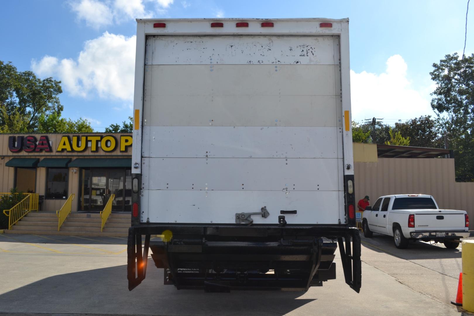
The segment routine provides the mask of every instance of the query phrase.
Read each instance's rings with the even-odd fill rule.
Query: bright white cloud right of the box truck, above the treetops
[[[429,96],[433,83],[428,81],[417,90],[408,80],[407,70],[400,55],[391,56],[381,74],[351,70],[352,120],[377,117],[393,124],[395,119],[433,115]]]

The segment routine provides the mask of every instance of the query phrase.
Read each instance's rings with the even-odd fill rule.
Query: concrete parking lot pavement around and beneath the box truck
[[[390,237],[363,237],[360,294],[340,269],[308,292],[176,290],[152,262],[129,292],[126,238],[0,234],[0,315],[460,315],[449,301],[461,251],[421,242],[399,250]]]

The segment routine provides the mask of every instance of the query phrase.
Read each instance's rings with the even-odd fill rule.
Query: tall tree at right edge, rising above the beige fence
[[[437,87],[431,95],[442,135],[454,150],[457,177],[474,177],[474,54],[447,54],[433,63],[431,79]]]

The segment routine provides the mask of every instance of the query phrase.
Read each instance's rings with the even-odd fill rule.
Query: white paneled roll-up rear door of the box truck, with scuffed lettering
[[[142,222],[235,224],[266,207],[255,224],[281,210],[297,210],[291,224],[345,223],[339,46],[147,36]]]

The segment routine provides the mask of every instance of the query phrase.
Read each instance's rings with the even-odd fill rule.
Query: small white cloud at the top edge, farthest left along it
[[[103,2],[96,0],[81,0],[70,2],[71,8],[79,20],[85,20],[87,26],[99,28],[113,23],[113,12]]]

